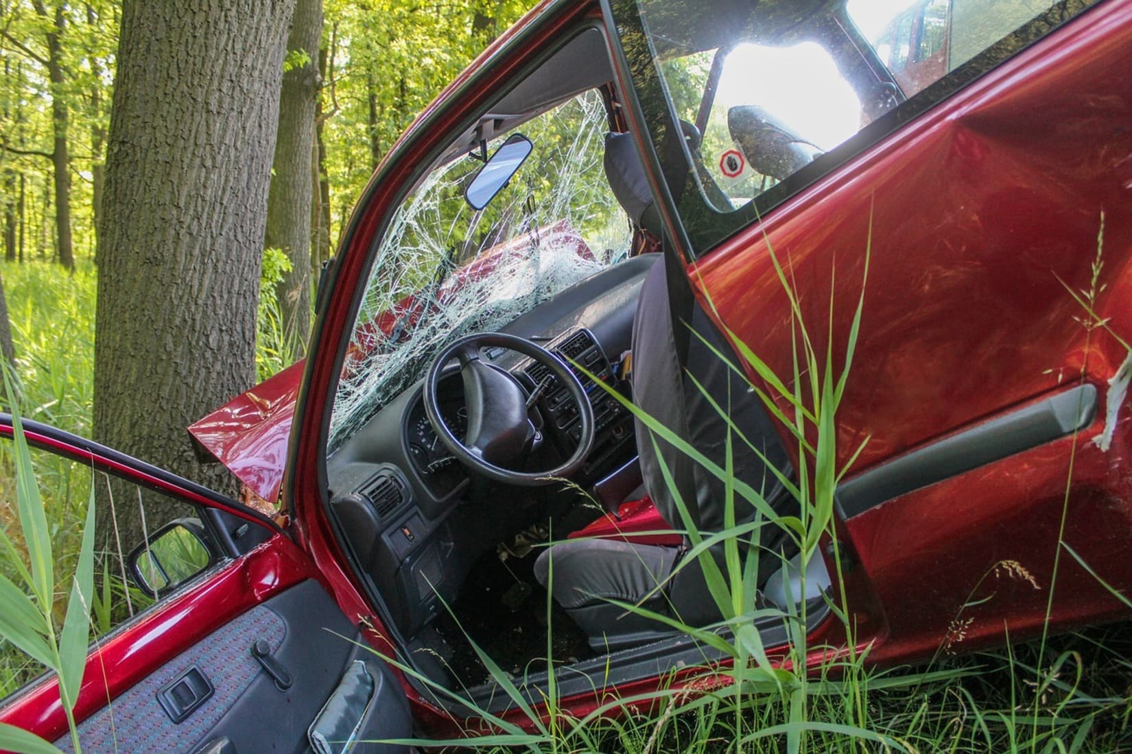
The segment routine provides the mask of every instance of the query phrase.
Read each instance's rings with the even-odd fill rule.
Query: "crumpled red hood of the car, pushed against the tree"
[[[539,236],[551,248],[593,259],[593,252],[585,241],[567,223],[540,228]],[[521,253],[525,244],[524,239],[515,239],[489,249],[466,267],[453,272],[448,283],[435,295],[444,298],[447,293],[458,289],[465,283],[490,275],[508,255]],[[355,346],[365,348],[368,343],[376,343],[378,338],[367,337],[376,335],[374,330],[389,335],[401,318],[406,318],[410,323],[414,322],[428,305],[418,301],[418,294],[406,296],[392,310],[375,318],[372,324],[366,326],[362,332],[355,335]],[[205,451],[226,466],[251,492],[268,502],[278,500],[305,364],[305,361],[292,364],[189,425],[189,434]]]

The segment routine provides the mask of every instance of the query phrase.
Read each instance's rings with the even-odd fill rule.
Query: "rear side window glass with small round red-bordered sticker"
[[[610,2],[697,253],[1090,5]]]

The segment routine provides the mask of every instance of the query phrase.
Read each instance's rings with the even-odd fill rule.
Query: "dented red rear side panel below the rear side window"
[[[1001,635],[1004,621],[1012,638],[1037,630],[1050,589],[1053,626],[1117,615],[1115,598],[1065,551],[1057,580],[1074,587],[1056,588],[1062,532],[1109,584],[1132,584],[1117,555],[1132,534],[1132,489],[1116,463],[1132,424],[1106,418],[1109,400],[1120,417],[1127,410],[1114,378],[1129,356],[1122,340],[1132,340],[1130,67],[1132,6],[1098,5],[694,265],[697,295],[721,323],[789,376],[796,321],[773,249],[804,292],[820,361],[832,339],[837,373],[869,250],[838,461],[864,450],[846,477],[852,518],[839,536],[885,605],[860,624],[901,651]],[[1105,327],[1078,300],[1090,295]],[[1091,417],[1006,432],[974,460],[961,460],[970,449],[945,452],[942,465],[932,458],[957,433],[994,440],[1017,407],[1079,385],[1096,391]],[[1101,432],[1112,434],[1107,452],[1092,442]],[[923,468],[906,468],[887,491],[874,486],[894,459],[921,451]]]

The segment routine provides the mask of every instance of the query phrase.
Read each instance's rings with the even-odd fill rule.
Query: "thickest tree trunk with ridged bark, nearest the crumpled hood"
[[[127,0],[97,251],[94,436],[203,484],[185,427],[256,376],[267,191],[293,0]],[[100,509],[100,544],[111,540]],[[122,544],[140,536],[119,505]],[[146,511],[147,525],[170,511]]]

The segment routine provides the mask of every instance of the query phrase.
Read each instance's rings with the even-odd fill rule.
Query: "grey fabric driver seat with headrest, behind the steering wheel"
[[[610,154],[607,150],[607,172],[610,171]],[[620,149],[617,155],[619,164],[615,165],[616,170],[621,175],[631,176],[634,170],[638,171],[643,182],[644,170],[635,149]],[[629,158],[632,162],[626,163]],[[631,182],[642,184],[635,180],[625,181]],[[640,208],[638,202],[636,209]],[[636,219],[641,213],[631,211],[631,215]],[[748,390],[731,365],[712,352],[714,348],[720,354],[730,355],[730,346],[698,305],[693,309],[691,326],[693,333],[685,367],[677,357],[666,265],[663,260],[658,260],[641,287],[633,322],[634,402],[722,467],[726,462],[728,423],[696,387],[694,378],[719,406],[730,407],[731,419],[743,428],[747,440],[758,447],[783,476],[789,477],[791,467],[786,450],[758,397]],[[645,491],[670,526],[684,528],[661,470],[661,458],[700,531],[726,528],[722,482],[654,436],[640,419],[636,422],[636,444]],[[732,462],[736,477],[762,491],[763,497],[775,508],[796,505],[789,495],[783,494],[773,471],[738,439],[732,442]],[[753,518],[753,509],[741,499],[736,499],[736,506],[739,521]],[[775,527],[764,527],[761,544],[774,547],[779,544],[778,535]],[[720,619],[698,563],[688,563],[674,575],[687,546],[687,538],[679,547],[619,539],[568,540],[547,548],[535,562],[534,574],[585,631],[592,649],[616,650],[654,640],[671,633],[671,629],[609,600],[641,603],[650,610],[692,626],[704,626]],[[717,555],[717,560],[722,562],[721,554]],[[650,592],[655,593],[642,603]]]

